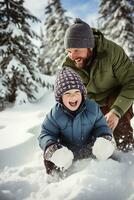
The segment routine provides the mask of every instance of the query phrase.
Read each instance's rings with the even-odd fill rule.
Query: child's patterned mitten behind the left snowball
[[[62,145],[59,143],[54,143],[48,146],[46,151],[44,152],[44,159],[49,160],[52,157],[53,153],[60,148],[62,148]]]

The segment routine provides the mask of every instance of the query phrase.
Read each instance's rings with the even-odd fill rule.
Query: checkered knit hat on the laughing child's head
[[[74,70],[69,67],[64,67],[59,71],[56,77],[54,85],[55,99],[57,102],[61,103],[61,97],[64,92],[71,89],[79,89],[81,94],[83,94],[84,99],[86,99],[87,91],[82,83],[82,80]]]

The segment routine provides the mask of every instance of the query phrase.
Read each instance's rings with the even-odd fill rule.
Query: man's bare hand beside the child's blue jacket
[[[119,117],[111,110],[105,115],[105,118],[109,127],[114,131],[119,122]]]

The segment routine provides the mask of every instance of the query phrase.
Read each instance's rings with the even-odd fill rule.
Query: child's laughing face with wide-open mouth
[[[71,89],[66,91],[62,95],[62,102],[69,110],[77,110],[82,102],[82,95],[80,90]]]

